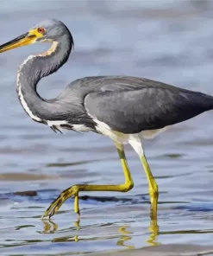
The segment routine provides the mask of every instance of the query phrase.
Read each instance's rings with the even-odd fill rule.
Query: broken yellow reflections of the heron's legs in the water
[[[54,233],[55,231],[58,230],[58,225],[54,223],[53,221],[46,220],[42,221],[43,222],[43,231],[42,233]],[[60,238],[55,238],[53,239],[53,242],[61,242],[61,241],[75,241],[78,242],[80,240],[100,240],[100,237],[97,238],[79,238],[78,237],[78,231],[80,230],[80,220],[75,221],[74,225],[76,228],[76,235],[74,236],[66,236],[66,237],[60,237]],[[72,230],[73,230],[72,226]],[[158,246],[160,245],[159,242],[156,241],[157,236],[159,234],[159,226],[158,226],[158,221],[157,221],[157,212],[153,213],[152,211],[152,206],[150,208],[150,225],[148,227],[148,230],[150,232],[149,238],[147,240],[147,243],[151,246]],[[127,241],[132,239],[132,233],[128,231],[128,226],[120,226],[118,227],[118,235],[114,236],[117,238],[116,245],[117,246],[122,246],[125,247],[126,249],[135,249],[135,246],[129,245]]]

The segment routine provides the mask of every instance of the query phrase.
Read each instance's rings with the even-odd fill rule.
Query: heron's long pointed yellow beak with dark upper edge
[[[15,39],[0,45],[0,53],[9,51],[13,48],[18,48],[24,45],[28,45],[34,43],[36,39],[36,35],[30,35],[29,33],[25,33],[16,37]]]

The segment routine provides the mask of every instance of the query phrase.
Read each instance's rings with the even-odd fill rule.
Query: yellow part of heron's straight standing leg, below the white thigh
[[[143,165],[143,168],[145,170],[147,181],[148,181],[148,191],[150,195],[150,202],[151,202],[151,220],[157,220],[157,208],[158,208],[158,185],[155,182],[152,172],[148,166],[147,159],[145,155],[142,155],[141,157],[141,163]]]

